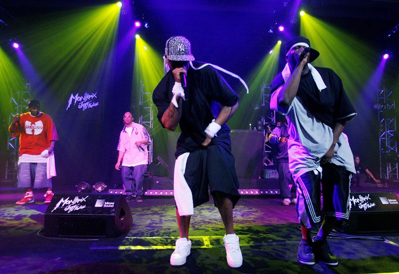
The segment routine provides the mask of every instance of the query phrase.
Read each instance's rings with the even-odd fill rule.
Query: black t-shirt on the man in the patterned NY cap
[[[193,65],[199,67],[201,64],[196,62]],[[175,79],[169,71],[154,90],[153,101],[158,108],[157,117],[161,124],[162,115],[172,100],[174,85]],[[221,107],[233,106],[238,101],[238,95],[211,66],[200,70],[189,68],[185,98],[179,122],[182,134],[178,139],[176,157],[200,148],[206,138],[205,128],[217,117]],[[231,150],[229,132],[227,124],[222,125],[209,145],[222,145]]]

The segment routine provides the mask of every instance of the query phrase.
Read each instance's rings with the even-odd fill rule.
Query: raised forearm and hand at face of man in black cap
[[[283,108],[288,108],[291,105],[292,100],[294,99],[296,93],[298,92],[302,71],[309,62],[309,56],[310,56],[309,53],[307,53],[305,57],[302,59],[302,61],[300,61],[301,52],[302,50],[298,50],[294,54],[294,58],[295,60],[297,60],[297,65],[294,68],[290,78],[284,84],[284,86],[277,95],[277,103],[279,106],[282,106]]]

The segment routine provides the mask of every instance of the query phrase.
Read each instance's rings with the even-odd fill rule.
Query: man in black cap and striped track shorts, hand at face
[[[339,221],[349,218],[355,166],[342,131],[357,113],[337,74],[310,65],[318,56],[305,37],[288,42],[287,64],[272,82],[270,108],[285,114],[288,121],[289,168],[297,186],[296,210],[302,229],[298,261],[314,265],[318,260],[335,266],[338,260],[326,239]],[[312,240],[311,229],[321,221]]]

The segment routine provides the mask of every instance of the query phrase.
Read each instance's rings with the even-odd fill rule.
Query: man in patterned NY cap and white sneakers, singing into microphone
[[[154,90],[153,100],[162,126],[175,130],[179,124],[182,130],[177,142],[174,176],[181,238],[176,242],[170,263],[173,266],[186,263],[191,249],[191,215],[194,207],[209,200],[209,189],[225,227],[227,263],[232,268],[240,267],[242,255],[239,238],[234,234],[232,213],[240,195],[230,129],[226,124],[238,107],[238,95],[213,65],[200,68],[193,65],[191,44],[185,37],[168,39],[164,58],[170,71]]]

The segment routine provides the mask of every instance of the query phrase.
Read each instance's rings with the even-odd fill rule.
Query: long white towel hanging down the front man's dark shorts
[[[189,155],[190,152],[186,152],[180,155],[175,162],[173,191],[180,216],[194,215],[193,193],[184,178]]]

